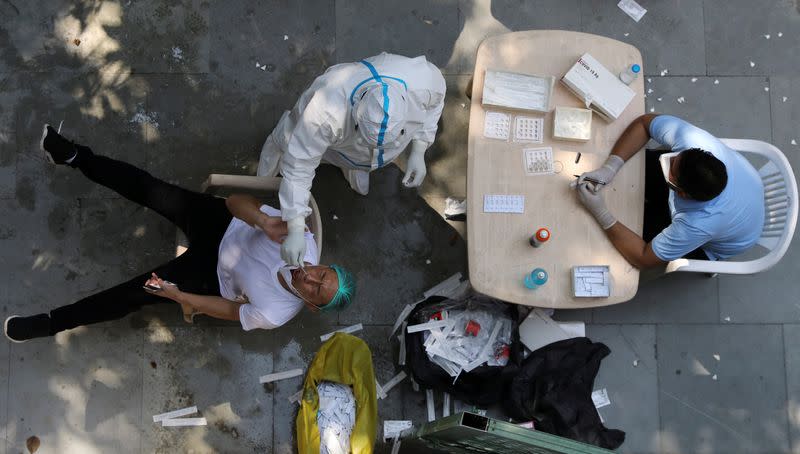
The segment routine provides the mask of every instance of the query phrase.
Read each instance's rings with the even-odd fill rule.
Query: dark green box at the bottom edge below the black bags
[[[424,424],[416,433],[424,446],[448,453],[602,454],[604,448],[462,412]]]

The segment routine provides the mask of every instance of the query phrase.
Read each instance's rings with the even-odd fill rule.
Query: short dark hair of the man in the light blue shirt
[[[705,202],[720,195],[728,184],[725,164],[713,154],[690,148],[680,154],[678,188],[694,200]]]

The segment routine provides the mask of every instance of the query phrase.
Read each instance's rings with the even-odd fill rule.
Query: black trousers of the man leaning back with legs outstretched
[[[183,291],[219,295],[219,243],[232,218],[225,199],[179,188],[130,164],[96,155],[89,149],[81,149],[72,166],[90,180],[167,218],[186,234],[189,248],[180,257],[127,282],[50,311],[51,334],[116,320],[147,304],[174,304],[144,291],[142,286],[150,278],[151,271],[178,284]]]

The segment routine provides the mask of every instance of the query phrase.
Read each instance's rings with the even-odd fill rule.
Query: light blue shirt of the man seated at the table
[[[747,159],[708,132],[671,115],[654,118],[650,136],[672,151],[708,151],[725,164],[728,173],[725,189],[707,202],[684,199],[670,189],[672,224],[653,238],[656,256],[675,260],[702,246],[711,260],[719,260],[753,246],[764,227],[764,186]]]

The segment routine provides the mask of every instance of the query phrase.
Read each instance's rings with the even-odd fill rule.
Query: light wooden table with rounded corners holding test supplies
[[[483,136],[485,112],[503,111],[481,105],[487,68],[555,76],[557,82],[551,105],[554,108],[584,107],[558,80],[585,52],[614,74],[633,63],[642,65],[641,54],[631,45],[602,36],[560,30],[507,33],[486,39],[478,48],[469,120],[467,245],[469,278],[472,286],[481,293],[512,303],[559,309],[616,304],[636,294],[639,271],[617,252],[583,208],[569,183],[575,180],[573,174],[602,165],[625,128],[644,113],[644,76],[631,84],[636,96],[619,119],[607,123],[599,116],[593,116],[589,142],[554,140],[553,111],[544,115],[543,144],[502,142]],[[522,149],[534,147],[552,147],[556,170],[561,169],[560,172],[526,176]],[[581,152],[582,157],[575,164],[577,152]],[[603,192],[611,213],[641,234],[644,153],[630,159]],[[484,213],[483,198],[486,194],[524,195],[525,213]],[[539,227],[550,229],[552,237],[542,247],[533,248],[528,244],[528,238]],[[610,266],[609,298],[573,296],[572,267],[579,265]],[[548,282],[536,290],[529,290],[523,285],[523,278],[537,267],[547,270]]]

